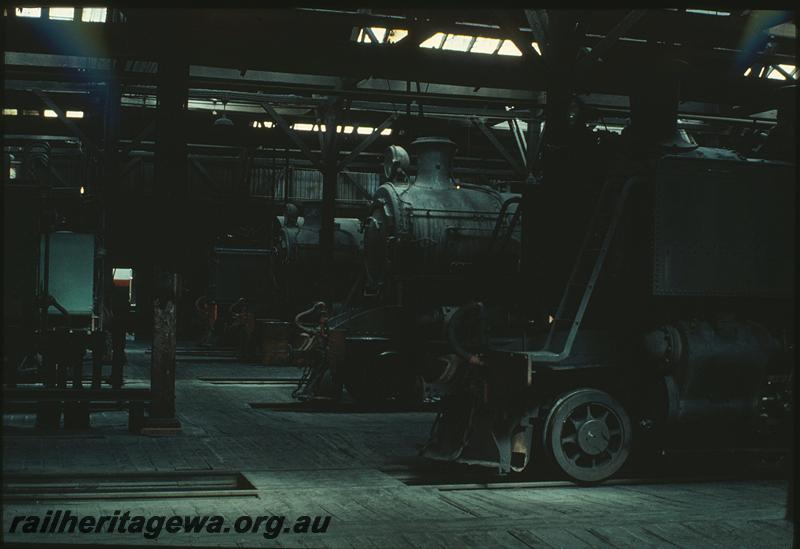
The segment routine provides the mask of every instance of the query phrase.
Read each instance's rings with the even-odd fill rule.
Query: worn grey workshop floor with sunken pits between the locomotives
[[[129,386],[147,383],[150,356],[131,345]],[[92,415],[90,431],[40,435],[30,414],[3,419],[4,482],[15,475],[242,473],[251,490],[214,497],[9,498],[3,535],[18,543],[269,547],[768,547],[788,548],[786,482],[726,480],[533,486],[424,482],[417,457],[434,414],[294,411],[299,371],[217,359],[181,360],[174,436],[127,432],[127,415]],[[245,380],[241,384],[220,382]],[[250,380],[248,382],[248,380]],[[259,380],[254,382],[252,380]],[[264,383],[264,380],[273,380]],[[281,404],[283,403],[283,408]],[[260,406],[251,406],[258,404]],[[273,406],[274,405],[274,406]],[[135,475],[133,475],[135,476]],[[423,481],[420,482],[420,478]],[[161,494],[162,496],[164,494]],[[18,515],[330,515],[328,531],[169,534],[8,533]]]

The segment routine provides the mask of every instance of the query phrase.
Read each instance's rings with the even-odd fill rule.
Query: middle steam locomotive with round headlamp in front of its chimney
[[[386,153],[388,181],[364,221],[360,303],[332,320],[347,330],[342,376],[362,401],[419,399],[423,379],[448,371],[456,308],[481,298],[498,322],[509,322],[518,284],[519,195],[455,180],[449,139],[424,137],[412,147],[415,176],[404,149]]]

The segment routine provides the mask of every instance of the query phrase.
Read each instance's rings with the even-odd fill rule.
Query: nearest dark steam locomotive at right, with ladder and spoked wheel
[[[462,360],[423,455],[501,472],[546,458],[591,483],[623,467],[636,437],[741,447],[775,426],[788,432],[794,166],[687,141],[676,128],[678,78],[665,70],[649,85],[633,94],[631,125],[598,170],[561,290],[528,288],[548,324],[502,341],[484,302],[451,318]],[[559,169],[563,189],[570,172]],[[546,227],[549,212],[586,196],[540,201],[526,221]],[[483,334],[471,347],[465,326]]]

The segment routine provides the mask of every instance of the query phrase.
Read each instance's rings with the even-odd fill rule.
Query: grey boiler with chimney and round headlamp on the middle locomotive
[[[484,274],[490,262],[495,273],[514,272],[519,196],[454,180],[455,143],[449,139],[423,137],[412,147],[419,150],[416,177],[405,173],[408,154],[390,147],[385,162],[390,180],[376,191],[364,223],[370,289],[394,285],[400,291],[399,284],[425,279],[430,290],[433,279]],[[433,291],[441,290],[446,288]]]

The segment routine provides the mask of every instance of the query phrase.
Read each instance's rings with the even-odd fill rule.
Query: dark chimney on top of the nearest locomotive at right
[[[687,63],[662,59],[654,65],[637,81],[630,95],[632,142],[641,148],[693,149],[696,145],[678,132],[680,80]]]

